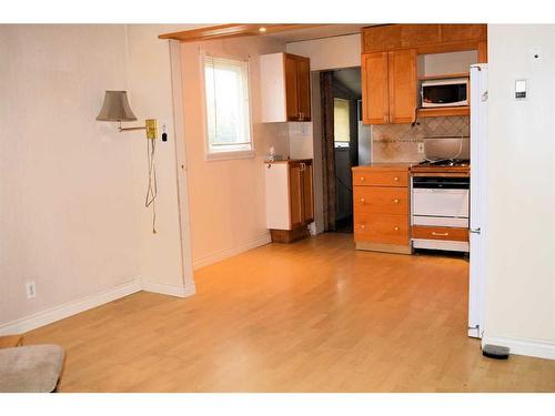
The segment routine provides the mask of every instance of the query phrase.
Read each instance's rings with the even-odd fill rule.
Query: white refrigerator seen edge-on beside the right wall
[[[487,145],[487,64],[471,67],[471,213],[468,336],[484,333]]]

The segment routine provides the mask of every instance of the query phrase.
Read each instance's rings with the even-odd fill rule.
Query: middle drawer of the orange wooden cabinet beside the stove
[[[408,215],[407,187],[354,186],[354,212]]]

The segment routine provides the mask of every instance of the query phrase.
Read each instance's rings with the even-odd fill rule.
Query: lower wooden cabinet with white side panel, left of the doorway
[[[312,160],[265,163],[266,226],[272,242],[291,243],[310,235],[314,221]]]

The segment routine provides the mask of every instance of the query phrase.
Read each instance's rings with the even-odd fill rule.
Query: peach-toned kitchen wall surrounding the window
[[[204,159],[204,93],[200,48],[215,55],[251,59],[254,158]],[[270,145],[275,146],[278,154],[289,155],[289,130],[287,123],[261,123],[258,57],[284,50],[283,42],[254,37],[182,44],[186,174],[195,268],[270,242],[265,225],[263,161]]]

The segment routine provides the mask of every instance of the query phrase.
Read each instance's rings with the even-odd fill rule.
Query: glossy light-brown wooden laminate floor
[[[554,392],[555,362],[482,356],[468,263],[355,252],[351,235],[271,244],[36,329],[67,349],[61,392]]]

